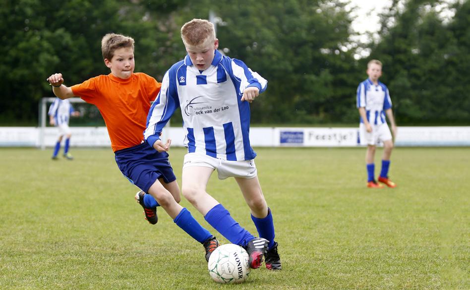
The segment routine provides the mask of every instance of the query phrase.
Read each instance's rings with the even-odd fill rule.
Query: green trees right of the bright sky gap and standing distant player
[[[372,48],[371,58],[384,62],[382,79],[400,124],[470,122],[470,2],[457,2],[448,23],[438,15],[441,2],[407,1]]]

